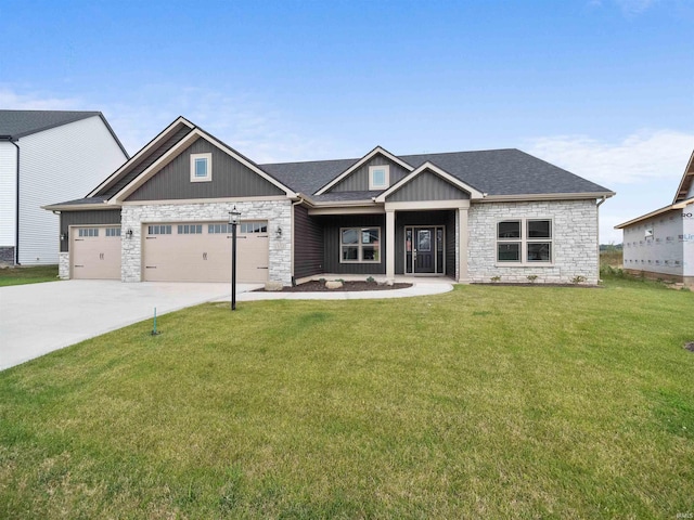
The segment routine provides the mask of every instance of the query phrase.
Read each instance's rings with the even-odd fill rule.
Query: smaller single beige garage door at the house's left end
[[[73,278],[120,280],[120,227],[70,227]]]

